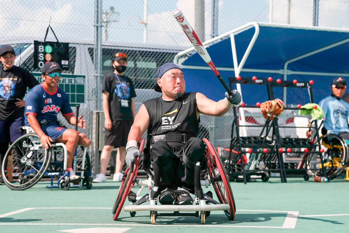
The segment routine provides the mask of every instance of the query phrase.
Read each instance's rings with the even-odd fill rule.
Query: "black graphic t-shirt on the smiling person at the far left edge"
[[[13,66],[9,70],[0,67],[0,121],[12,121],[24,116],[24,107],[15,104],[23,99],[27,87],[33,88],[39,82],[27,70]]]

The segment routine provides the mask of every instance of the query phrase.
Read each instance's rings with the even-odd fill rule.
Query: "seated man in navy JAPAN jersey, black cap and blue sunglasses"
[[[57,114],[61,111],[68,123],[76,124],[76,117],[70,108],[68,96],[64,90],[58,87],[61,71],[60,65],[52,61],[47,62],[42,67],[43,82],[32,88],[25,99],[25,125],[31,126],[40,137],[41,144],[45,149],[48,149],[54,141],[66,145],[67,171],[70,172],[69,181],[78,183],[81,177],[75,175],[72,168],[75,148],[77,145],[88,147],[91,145],[91,141],[84,133],[61,127],[57,121]],[[79,116],[77,120],[77,126],[86,129],[86,123],[82,116]]]

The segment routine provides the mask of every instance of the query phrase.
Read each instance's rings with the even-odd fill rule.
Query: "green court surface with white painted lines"
[[[67,191],[47,189],[47,184],[39,182],[24,191],[0,185],[0,232],[349,232],[349,182],[343,179],[318,183],[288,177],[287,183],[281,183],[272,177],[268,182],[231,182],[235,219],[211,211],[205,225],[200,218],[183,216],[158,217],[152,225],[149,211],[131,217],[122,210],[114,221],[111,208],[120,182],[108,180],[93,183],[91,190]]]

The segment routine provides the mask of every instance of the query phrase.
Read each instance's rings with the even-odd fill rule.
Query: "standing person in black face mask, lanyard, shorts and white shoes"
[[[133,98],[136,93],[133,82],[124,75],[127,66],[127,55],[117,52],[112,58],[112,73],[106,74],[102,81],[102,101],[104,111],[104,147],[101,153],[101,172],[93,182],[106,182],[105,172],[109,164],[110,154],[118,147],[115,174],[113,181],[121,181],[122,166],[126,157],[127,136],[136,115]]]

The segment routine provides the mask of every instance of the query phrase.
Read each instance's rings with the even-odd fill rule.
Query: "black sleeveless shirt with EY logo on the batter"
[[[183,97],[165,101],[162,97],[144,102],[149,114],[149,136],[169,132],[199,133],[200,118],[196,117],[196,92],[185,93]]]

